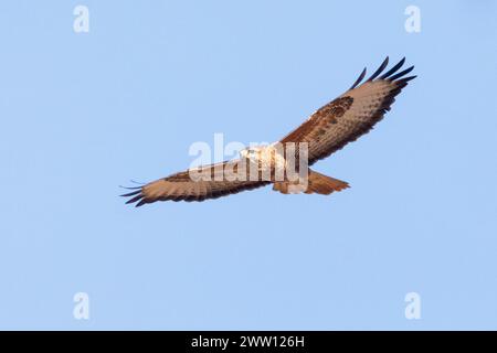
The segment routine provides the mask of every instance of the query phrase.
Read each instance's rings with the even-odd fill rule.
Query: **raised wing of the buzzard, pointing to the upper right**
[[[389,58],[364,83],[366,68],[352,87],[337,99],[314,113],[303,125],[281,142],[307,142],[309,165],[355,141],[383,118],[395,96],[416,76],[405,76],[414,66],[402,72],[402,58],[385,69]]]

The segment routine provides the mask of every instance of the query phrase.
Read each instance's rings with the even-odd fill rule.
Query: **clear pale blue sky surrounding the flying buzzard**
[[[490,0],[2,1],[0,329],[497,329],[496,18]],[[283,137],[385,55],[419,77],[315,165],[351,189],[118,197],[214,132]]]

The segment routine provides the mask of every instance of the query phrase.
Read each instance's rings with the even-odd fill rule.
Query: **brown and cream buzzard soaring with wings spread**
[[[284,194],[305,192],[328,195],[334,191],[348,188],[347,182],[320,174],[308,167],[371,130],[390,110],[395,96],[408,85],[408,82],[416,77],[406,76],[414,66],[400,71],[405,57],[384,72],[388,62],[389,57],[366,81],[363,81],[364,68],[346,93],[316,110],[297,129],[277,141],[283,146],[293,145],[294,152],[288,153],[285,152],[286,150],[283,153],[277,152],[274,143],[246,148],[240,152],[240,158],[236,160],[195,168],[194,175],[202,178],[192,178],[190,169],[142,186],[128,188],[133,191],[123,196],[129,197],[127,203],[141,206],[156,201],[218,199],[268,184],[273,184],[273,190]],[[299,175],[300,171],[306,172],[304,188],[293,188],[296,184],[300,185],[302,180],[298,179],[296,182],[296,179],[288,178],[286,172],[283,172],[283,176],[279,173],[281,178],[275,178],[276,164],[283,165],[284,171],[288,169],[287,161],[289,157],[295,158],[296,146],[306,147],[306,153],[304,153],[307,158],[306,163],[300,160],[300,162],[294,162],[297,165],[296,170],[299,169]],[[246,165],[255,165],[256,173],[248,175],[248,170],[252,169]],[[265,171],[268,171],[265,174],[266,178],[261,178]],[[233,178],[233,173],[236,178]],[[253,178],[254,175],[256,178]]]

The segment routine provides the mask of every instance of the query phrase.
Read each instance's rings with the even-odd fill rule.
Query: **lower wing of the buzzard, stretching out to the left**
[[[240,169],[240,160],[226,161],[192,171],[183,171],[167,178],[156,180],[121,196],[130,197],[126,203],[136,203],[141,206],[156,201],[204,201],[235,194],[245,190],[261,188],[269,182],[251,181],[250,167]],[[193,178],[192,178],[193,175]],[[226,178],[226,175],[232,175]],[[236,178],[235,178],[236,176]],[[232,180],[232,181],[230,181]]]

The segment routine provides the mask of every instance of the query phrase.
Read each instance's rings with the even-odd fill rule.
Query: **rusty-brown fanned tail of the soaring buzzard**
[[[321,194],[329,195],[334,191],[341,191],[349,188],[349,184],[345,181],[324,175],[309,169],[307,179],[303,182],[282,181],[275,182],[273,185],[274,191],[279,191],[283,194],[300,193],[306,194]]]

